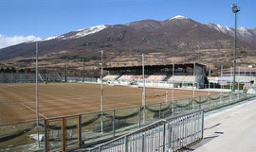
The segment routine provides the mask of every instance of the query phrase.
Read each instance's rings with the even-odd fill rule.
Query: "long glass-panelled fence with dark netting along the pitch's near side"
[[[255,97],[253,93],[214,93],[206,96],[39,121],[39,151],[91,146],[129,133],[159,119],[192,110],[215,110]],[[0,151],[33,151],[36,121],[0,125]],[[31,148],[32,147],[32,148]],[[47,148],[46,148],[47,147]]]

